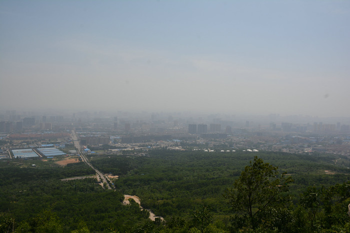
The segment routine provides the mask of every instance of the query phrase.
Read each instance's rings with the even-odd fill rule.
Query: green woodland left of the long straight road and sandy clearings
[[[137,204],[121,205],[123,195],[103,190],[94,178],[60,180],[93,174],[88,166],[47,169],[40,168],[41,161],[35,163],[36,168],[10,163],[0,169],[1,228],[6,219],[13,219],[17,232],[130,232],[147,221],[148,212],[141,212]]]

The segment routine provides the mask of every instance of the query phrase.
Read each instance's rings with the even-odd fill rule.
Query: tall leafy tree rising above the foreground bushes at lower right
[[[256,229],[261,220],[266,218],[264,212],[271,208],[286,205],[288,184],[293,180],[285,174],[279,175],[277,167],[264,163],[262,159],[254,157],[253,162],[244,168],[239,178],[235,180],[233,189],[228,189],[228,198],[236,213],[235,219],[240,227],[247,225]]]

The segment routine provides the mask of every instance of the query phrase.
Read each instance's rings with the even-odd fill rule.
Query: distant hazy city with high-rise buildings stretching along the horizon
[[[235,116],[186,113],[4,111],[0,114],[1,159],[50,145],[72,145],[75,130],[83,153],[103,149],[106,154],[147,150],[280,151],[288,153],[350,152],[350,118],[310,116]],[[12,153],[9,153],[12,151]],[[33,153],[28,151],[28,153]],[[66,154],[74,151],[65,151]],[[35,150],[37,156],[45,156]],[[54,151],[51,153],[61,153]],[[65,154],[63,153],[63,154]],[[75,151],[76,153],[76,151]],[[93,153],[93,152],[92,152]],[[26,154],[36,156],[35,154]],[[55,154],[56,155],[56,154]]]

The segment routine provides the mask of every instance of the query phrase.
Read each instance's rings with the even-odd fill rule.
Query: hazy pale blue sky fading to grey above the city
[[[1,0],[0,109],[350,117],[350,1]]]

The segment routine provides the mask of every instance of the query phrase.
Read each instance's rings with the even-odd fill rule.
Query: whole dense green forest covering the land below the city
[[[96,184],[83,163],[0,161],[0,232],[350,231],[346,157],[152,150],[89,159],[101,172],[119,176],[115,190]],[[91,178],[61,181],[77,176]],[[251,190],[248,181],[264,186],[239,196]],[[138,196],[164,221],[150,221],[134,202],[123,206],[124,194]],[[239,202],[250,195],[272,201],[263,207]]]

